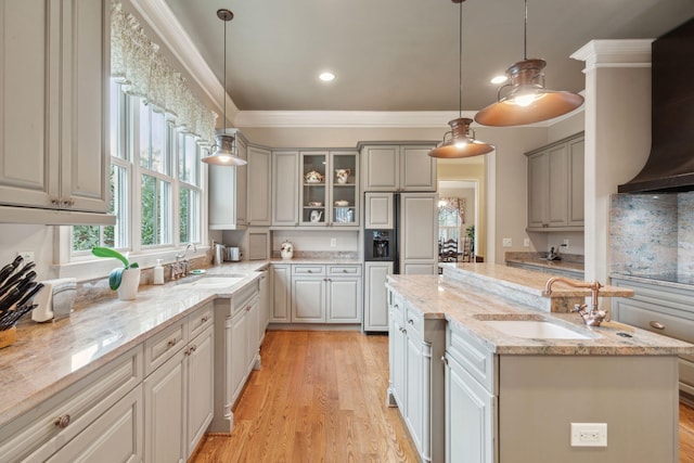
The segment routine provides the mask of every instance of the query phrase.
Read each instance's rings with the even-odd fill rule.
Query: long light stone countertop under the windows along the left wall
[[[192,275],[160,286],[140,286],[136,300],[115,298],[75,307],[69,318],[17,324],[17,340],[0,349],[0,424],[21,415],[111,360],[159,333],[195,309],[259,278],[267,261],[224,263],[205,275],[244,274],[228,288],[200,286],[177,290],[205,275]]]

